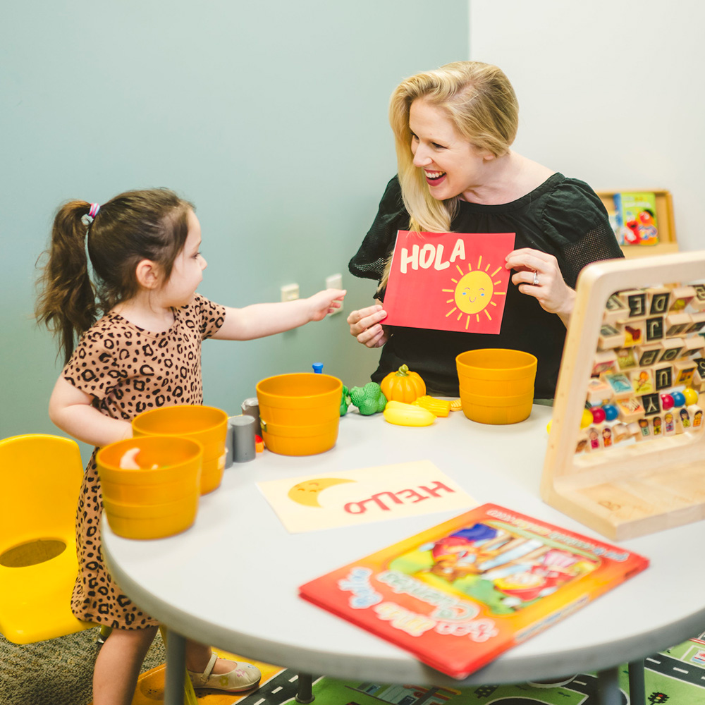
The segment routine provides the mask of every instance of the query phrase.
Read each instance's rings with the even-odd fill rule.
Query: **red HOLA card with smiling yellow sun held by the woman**
[[[384,295],[391,326],[499,333],[515,233],[400,230]]]

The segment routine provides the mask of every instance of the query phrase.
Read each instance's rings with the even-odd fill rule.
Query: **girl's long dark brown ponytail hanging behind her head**
[[[36,315],[59,336],[59,354],[68,362],[75,342],[97,318],[96,294],[86,253],[90,203],[71,201],[61,207],[51,228],[48,262],[37,282]]]

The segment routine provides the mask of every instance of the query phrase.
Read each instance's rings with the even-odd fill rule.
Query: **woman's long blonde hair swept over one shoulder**
[[[458,197],[431,196],[422,169],[413,164],[409,111],[423,98],[440,108],[459,135],[496,157],[509,151],[517,134],[519,104],[509,79],[482,61],[455,61],[435,71],[403,80],[392,93],[389,122],[394,132],[397,164],[411,231],[445,233],[458,208]]]

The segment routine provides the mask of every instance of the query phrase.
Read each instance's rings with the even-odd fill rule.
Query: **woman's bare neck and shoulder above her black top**
[[[460,199],[484,205],[510,203],[532,192],[554,171],[511,150],[485,163],[483,183],[463,191]]]

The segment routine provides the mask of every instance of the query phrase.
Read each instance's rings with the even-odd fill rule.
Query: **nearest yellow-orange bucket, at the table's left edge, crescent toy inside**
[[[140,469],[120,467],[133,448],[140,451],[134,458]],[[96,463],[111,529],[127,539],[161,539],[188,529],[198,509],[202,460],[200,443],[171,436],[101,448]]]

